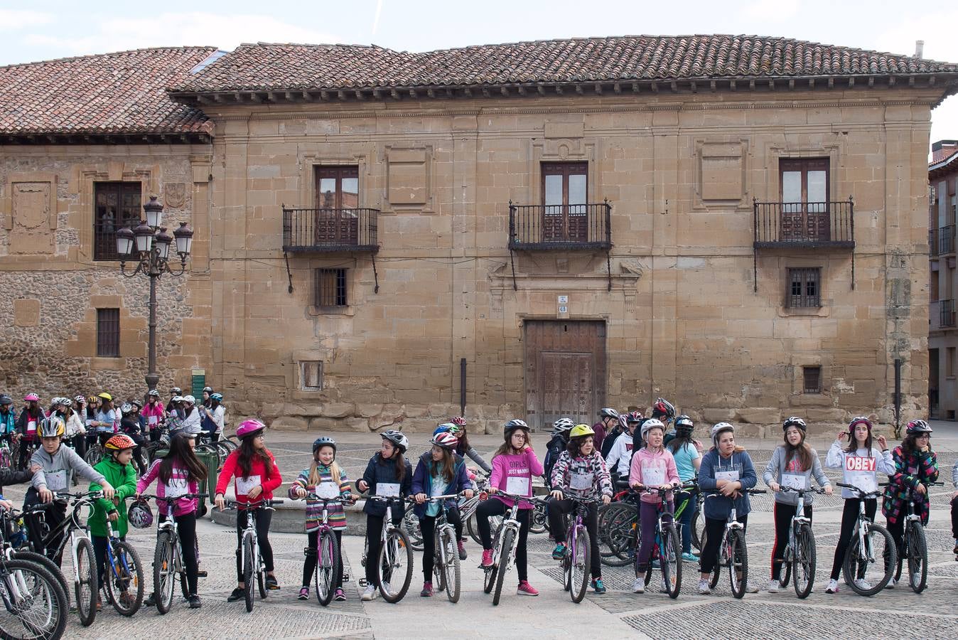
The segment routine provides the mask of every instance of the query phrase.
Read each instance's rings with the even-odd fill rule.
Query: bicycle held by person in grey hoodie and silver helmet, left
[[[54,492],[54,500],[45,504],[33,505],[24,509],[25,513],[35,513],[42,517],[43,511],[54,505],[54,501],[74,499],[73,511],[63,519],[57,527],[49,530],[42,537],[42,549],[34,549],[37,553],[44,552],[47,558],[56,561],[62,557],[66,549],[67,538],[70,540],[70,553],[73,558],[73,583],[77,595],[77,613],[80,624],[89,627],[97,617],[97,564],[93,555],[93,543],[90,541],[90,531],[86,525],[89,515],[93,513],[93,503],[103,497],[103,491],[83,491],[80,493]],[[86,513],[84,514],[84,510]],[[54,539],[59,537],[56,547],[51,547]]]

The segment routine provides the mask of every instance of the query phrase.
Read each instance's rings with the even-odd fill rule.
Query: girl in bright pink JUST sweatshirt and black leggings
[[[532,441],[529,438],[529,425],[525,421],[511,420],[503,425],[505,442],[492,454],[492,475],[490,493],[493,497],[479,503],[476,508],[476,522],[479,524],[479,537],[482,538],[481,568],[492,565],[492,533],[489,524],[490,515],[506,514],[513,506],[511,498],[494,495],[506,491],[513,495],[533,496],[533,476],[542,475],[542,464],[536,457]],[[537,596],[538,591],[529,583],[529,570],[526,556],[526,543],[529,539],[529,518],[533,513],[531,502],[519,501],[516,519],[519,521],[519,539],[515,545],[515,567],[519,574],[517,593]]]

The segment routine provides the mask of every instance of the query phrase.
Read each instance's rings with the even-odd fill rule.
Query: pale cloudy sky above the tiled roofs
[[[958,62],[958,4],[885,0],[0,0],[0,65],[154,46],[240,42],[377,44],[429,51],[559,37],[758,34]],[[33,9],[26,9],[33,5]],[[914,8],[914,12],[904,11]],[[931,140],[958,139],[958,97],[932,112]]]

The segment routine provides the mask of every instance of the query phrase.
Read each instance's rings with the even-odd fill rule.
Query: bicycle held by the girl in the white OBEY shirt
[[[885,588],[885,584],[892,579],[895,565],[898,563],[898,549],[892,535],[881,525],[875,524],[865,514],[865,500],[878,499],[878,490],[862,491],[855,485],[847,485],[842,482],[836,482],[835,484],[838,487],[855,491],[859,498],[858,519],[855,520],[855,528],[852,531],[852,538],[848,542],[848,551],[845,553],[844,566],[842,566],[845,583],[859,596],[874,596],[878,591]],[[879,574],[869,574],[868,569],[873,565],[878,566],[876,546],[882,543],[884,543],[884,547],[878,549],[878,551],[881,552],[881,557],[887,560],[881,562],[880,580],[878,580],[878,583],[873,583],[872,581],[878,578]],[[875,585],[873,586],[873,584]]]

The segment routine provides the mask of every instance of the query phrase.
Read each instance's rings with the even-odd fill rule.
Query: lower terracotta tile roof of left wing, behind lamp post
[[[208,133],[166,92],[216,47],[139,49],[0,67],[0,135]]]

